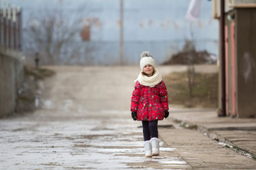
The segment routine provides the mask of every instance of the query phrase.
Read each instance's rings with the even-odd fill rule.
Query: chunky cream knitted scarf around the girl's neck
[[[151,77],[147,77],[146,75],[142,74],[142,72],[140,72],[138,78],[134,80],[134,82],[136,83],[136,81],[139,81],[139,83],[144,86],[154,87],[156,84],[159,84],[161,80],[162,79],[159,71],[155,69],[155,72]]]

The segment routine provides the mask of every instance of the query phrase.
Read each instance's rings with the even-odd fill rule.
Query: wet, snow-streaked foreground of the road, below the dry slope
[[[96,112],[85,116],[38,111],[1,120],[0,169],[190,168],[164,142],[161,156],[144,158],[138,125],[126,116]]]

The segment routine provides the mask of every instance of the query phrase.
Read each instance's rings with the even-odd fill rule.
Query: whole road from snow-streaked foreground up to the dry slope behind
[[[129,105],[138,67],[53,67],[41,110],[0,120],[0,169],[190,169],[175,148],[144,158]]]

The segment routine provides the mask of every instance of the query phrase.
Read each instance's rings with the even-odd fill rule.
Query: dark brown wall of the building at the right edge
[[[236,17],[239,118],[256,118],[256,8],[238,8]]]

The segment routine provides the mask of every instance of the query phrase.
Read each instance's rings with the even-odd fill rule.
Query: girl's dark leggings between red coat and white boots
[[[144,141],[150,140],[151,137],[158,138],[157,123],[158,123],[158,120],[154,120],[154,121],[143,120],[142,121]]]

